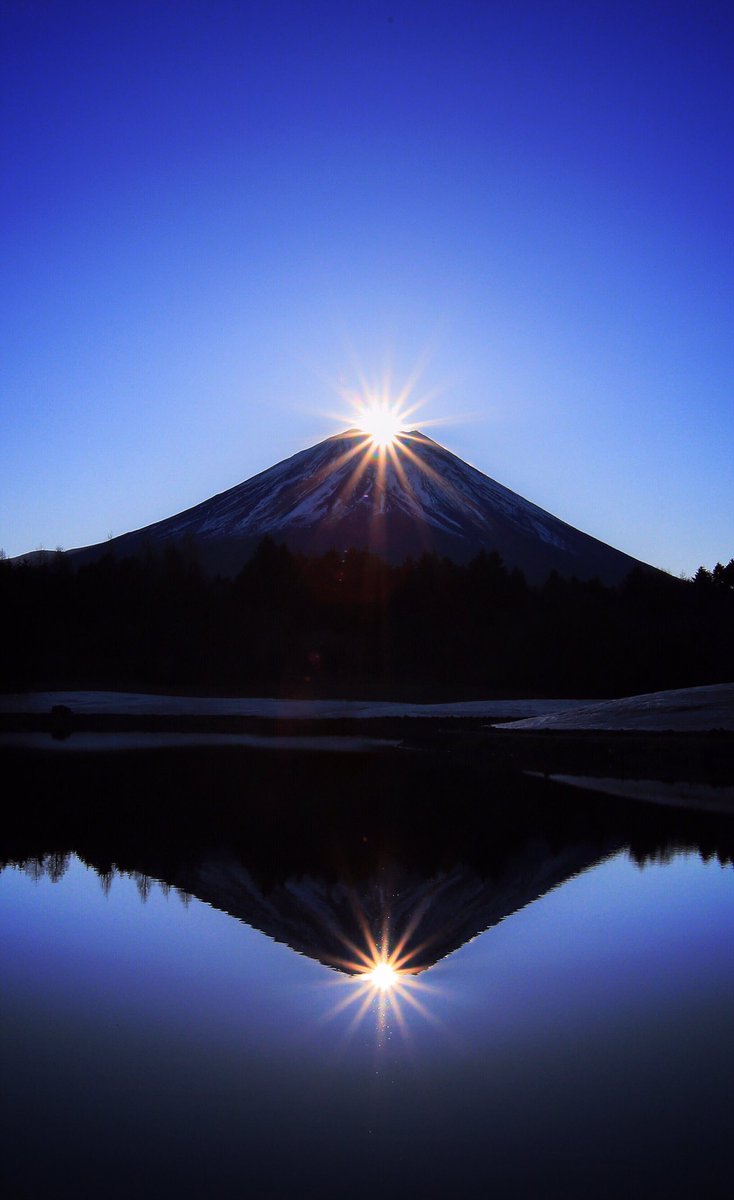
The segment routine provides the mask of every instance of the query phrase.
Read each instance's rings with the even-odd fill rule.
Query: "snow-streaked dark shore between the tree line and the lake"
[[[518,720],[519,718],[519,720]],[[604,724],[606,722],[606,724]],[[638,727],[628,727],[630,725]],[[451,704],[180,697],[131,692],[0,696],[0,752],[17,766],[89,756],[160,754],[379,755],[395,772],[433,762],[482,803],[489,791],[561,781],[600,798],[711,802],[734,811],[734,685],[608,701],[507,700]],[[142,769],[144,769],[142,758]],[[630,788],[637,781],[639,786]],[[624,785],[624,786],[622,786]],[[678,787],[678,791],[675,791]]]

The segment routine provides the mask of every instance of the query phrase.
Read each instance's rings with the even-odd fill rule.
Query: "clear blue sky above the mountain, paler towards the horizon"
[[[420,366],[413,424],[488,475],[674,574],[734,556],[730,4],[0,14],[8,554],[170,516]]]

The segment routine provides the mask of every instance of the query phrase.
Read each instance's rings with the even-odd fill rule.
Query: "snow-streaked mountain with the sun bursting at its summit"
[[[531,582],[556,570],[616,583],[644,565],[417,431],[380,449],[356,430],[301,450],[185,512],[70,554],[82,563],[110,551],[125,556],[170,541],[195,544],[204,566],[233,575],[266,535],[305,553],[354,546],[390,562],[435,552],[464,563],[482,548],[498,551]]]

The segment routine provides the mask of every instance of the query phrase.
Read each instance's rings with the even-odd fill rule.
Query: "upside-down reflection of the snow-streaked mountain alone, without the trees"
[[[426,876],[392,859],[359,880],[307,874],[267,890],[239,857],[221,854],[203,859],[186,887],[326,966],[351,974],[395,952],[403,972],[417,973],[619,848],[533,841],[488,877],[465,863]]]

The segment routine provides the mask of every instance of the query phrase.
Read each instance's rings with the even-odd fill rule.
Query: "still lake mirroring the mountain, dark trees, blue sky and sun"
[[[5,1194],[730,1194],[730,817],[390,748],[8,761]]]

